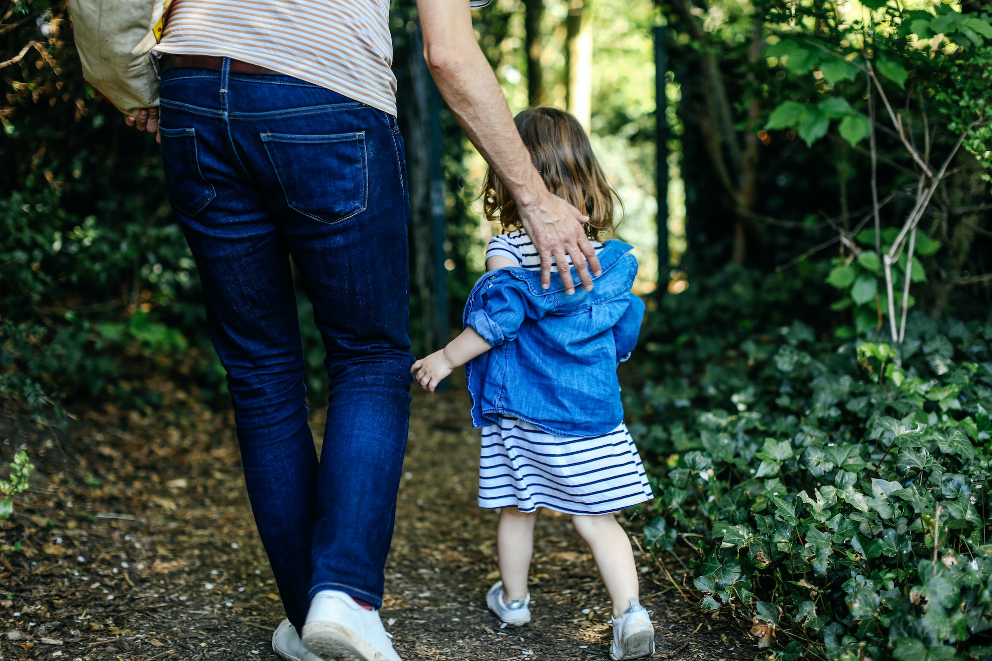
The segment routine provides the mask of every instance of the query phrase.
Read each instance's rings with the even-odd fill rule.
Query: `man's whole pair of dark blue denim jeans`
[[[169,196],[203,284],[245,482],[290,621],[382,604],[410,417],[407,201],[395,117],[283,75],[162,79]],[[330,397],[319,462],[290,260]]]

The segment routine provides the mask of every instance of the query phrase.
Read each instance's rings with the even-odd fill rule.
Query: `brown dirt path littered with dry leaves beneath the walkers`
[[[608,600],[567,517],[538,524],[534,621],[500,629],[485,610],[496,517],[475,504],[467,410],[461,393],[414,399],[382,612],[397,650],[407,661],[607,658]],[[0,459],[26,446],[38,472],[0,522],[2,631],[18,632],[0,637],[0,660],[276,658],[281,608],[229,414],[182,392],[154,415],[110,410],[67,431],[6,413]],[[639,563],[656,658],[754,658],[726,615],[704,617],[650,558]]]

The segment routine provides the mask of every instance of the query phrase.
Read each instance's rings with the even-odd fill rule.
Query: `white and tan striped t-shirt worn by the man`
[[[473,8],[488,0],[470,0]],[[265,66],[396,114],[389,0],[175,0],[159,54]]]

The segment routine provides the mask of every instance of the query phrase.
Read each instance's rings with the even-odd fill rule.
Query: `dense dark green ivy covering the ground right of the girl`
[[[691,540],[702,607],[753,618],[785,660],[810,641],[831,659],[992,657],[992,318],[913,314],[898,350],[802,322],[742,330],[787,314],[783,289],[656,315],[665,341],[627,402],[657,458],[649,547]],[[689,310],[744,314],[696,335]],[[783,627],[809,640],[778,649]]]

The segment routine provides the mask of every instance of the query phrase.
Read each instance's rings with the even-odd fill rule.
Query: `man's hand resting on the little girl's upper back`
[[[547,189],[539,193],[534,203],[525,206],[518,202],[517,208],[524,229],[541,256],[541,286],[545,289],[551,286],[554,256],[565,292],[574,293],[567,255],[571,257],[571,263],[578,272],[582,288],[587,292],[591,291],[592,276],[589,275],[589,269],[597,276],[602,273],[602,269],[599,267],[596,251],[582,227],[582,223],[589,218]]]

